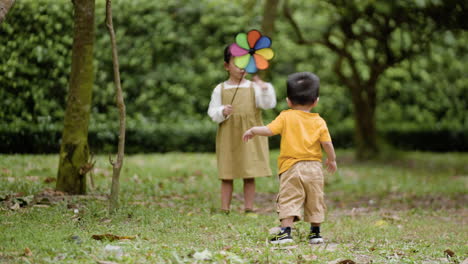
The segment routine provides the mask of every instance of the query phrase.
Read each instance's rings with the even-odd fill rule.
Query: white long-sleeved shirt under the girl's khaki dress
[[[251,81],[246,80],[239,86],[239,89],[249,88],[251,83]],[[271,109],[276,106],[275,89],[273,89],[273,85],[271,85],[271,83],[265,84],[267,85],[267,89],[262,89],[256,83],[253,83],[253,88],[255,91],[255,103],[257,108]],[[221,87],[222,83],[218,84],[213,90],[213,93],[211,94],[210,106],[208,107],[208,115],[216,123],[221,123],[229,118],[229,116],[225,117],[223,115],[224,105],[222,104],[221,100]],[[237,84],[228,84],[224,82],[224,89],[236,89],[236,87]]]

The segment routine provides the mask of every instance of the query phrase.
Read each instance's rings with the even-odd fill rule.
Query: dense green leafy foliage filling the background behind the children
[[[262,6],[254,2],[113,3],[127,105],[127,151],[214,149],[216,125],[206,115],[210,95],[214,86],[226,79],[222,68],[224,46],[233,42],[240,31],[260,29],[261,20],[256,14],[261,13]],[[375,8],[385,11],[385,1],[354,2],[358,9],[372,2]],[[294,0],[291,7],[311,34],[323,31],[330,19],[327,5],[311,9],[316,7],[314,3]],[[314,10],[313,16],[309,10]],[[0,152],[58,149],[55,146],[59,145],[71,67],[72,12],[68,0],[17,1],[0,26]],[[90,123],[94,151],[111,149],[118,131],[110,42],[103,21],[104,4],[97,2],[96,84]],[[338,147],[352,146],[351,95],[333,73],[335,55],[321,46],[297,45],[284,17],[278,18],[276,26],[277,32],[271,36],[276,57],[269,81],[276,87],[278,106],[264,112],[265,122],[287,108],[287,75],[313,71],[322,82],[317,112],[327,120]],[[359,24],[364,29],[367,26]],[[468,131],[464,114],[468,79],[464,69],[468,67],[468,53],[462,44],[468,34],[461,31],[436,36],[430,56],[395,65],[380,78],[378,129],[390,142],[395,139],[388,136],[409,131],[437,135],[454,129],[458,132],[450,141],[460,142],[458,150],[466,150],[463,133]],[[426,147],[424,142],[414,144],[411,137],[407,138],[398,146]],[[445,137],[430,136],[428,140],[449,142]],[[273,147],[277,141],[272,139]],[[22,142],[28,144],[23,146]]]

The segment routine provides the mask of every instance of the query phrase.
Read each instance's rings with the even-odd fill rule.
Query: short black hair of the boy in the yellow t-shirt
[[[319,97],[320,79],[311,72],[297,72],[288,76],[287,96],[294,105],[311,105]]]

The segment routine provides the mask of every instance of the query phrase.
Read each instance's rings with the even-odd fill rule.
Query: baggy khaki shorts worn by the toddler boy
[[[294,216],[300,220],[304,207],[304,221],[322,223],[327,209],[323,193],[323,173],[320,161],[299,161],[280,175],[277,198],[279,218]]]

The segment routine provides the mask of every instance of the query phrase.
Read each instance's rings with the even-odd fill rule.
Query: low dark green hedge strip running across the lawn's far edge
[[[117,128],[91,129],[88,139],[94,153],[116,151]],[[425,151],[468,151],[468,131],[460,130],[386,130],[380,131],[384,140],[392,147]],[[20,130],[0,127],[0,153],[58,153],[60,149],[61,128],[25,127]],[[214,152],[216,126],[200,122],[190,125],[153,125],[130,127],[126,133],[125,152]],[[353,131],[350,129],[332,130],[333,144],[336,148],[352,148]],[[434,140],[437,139],[437,140]],[[269,138],[270,148],[279,148],[280,136]]]

